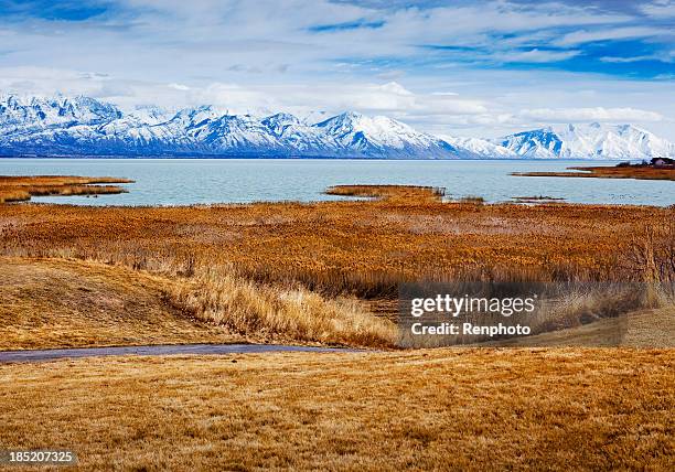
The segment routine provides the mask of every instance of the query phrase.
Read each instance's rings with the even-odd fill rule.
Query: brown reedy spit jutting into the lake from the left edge
[[[23,202],[31,196],[44,195],[101,195],[124,193],[117,185],[103,183],[130,183],[128,179],[84,178],[75,175],[0,175],[0,204]]]

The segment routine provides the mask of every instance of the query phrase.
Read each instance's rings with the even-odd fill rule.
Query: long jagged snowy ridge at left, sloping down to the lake
[[[205,155],[457,159],[452,144],[386,117],[345,112],[311,124],[289,114],[210,107],[125,114],[87,97],[0,100],[0,155]]]

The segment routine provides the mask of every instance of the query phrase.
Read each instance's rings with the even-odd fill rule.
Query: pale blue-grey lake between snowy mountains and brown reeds
[[[614,165],[615,162],[604,162]],[[76,205],[190,205],[256,201],[344,200],[323,194],[339,184],[411,184],[447,189],[448,197],[565,199],[571,203],[675,204],[675,182],[512,176],[511,172],[564,171],[589,161],[383,161],[300,159],[0,159],[3,175],[119,176],[129,193],[33,197]]]

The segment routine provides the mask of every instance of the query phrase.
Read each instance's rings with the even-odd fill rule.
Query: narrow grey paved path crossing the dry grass
[[[173,355],[173,354],[256,354],[275,352],[361,352],[341,347],[310,347],[285,344],[176,344],[119,347],[78,347],[60,350],[0,351],[0,363],[43,362],[60,358],[99,357],[110,355]]]

